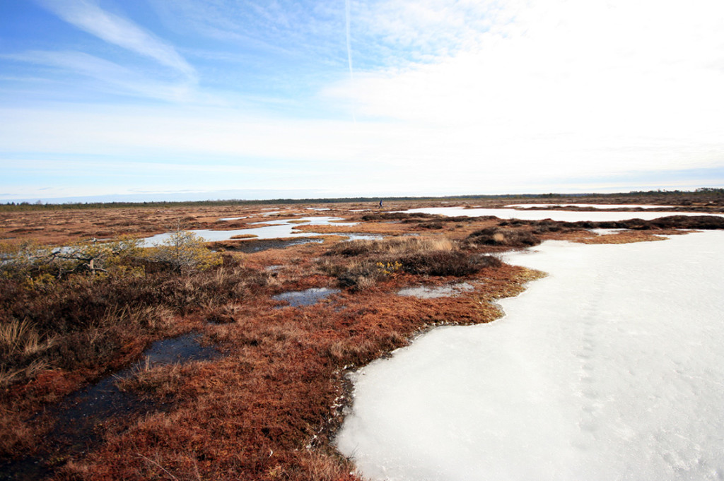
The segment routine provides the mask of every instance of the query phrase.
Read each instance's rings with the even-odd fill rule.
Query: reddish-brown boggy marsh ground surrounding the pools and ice
[[[709,202],[693,207],[720,210]],[[515,202],[470,205],[508,203]],[[649,226],[599,237],[589,227],[563,223],[390,213],[436,205],[441,204],[387,203],[384,211],[335,203],[0,213],[1,241],[11,244],[148,237],[177,226],[242,229],[251,222],[310,216],[313,208],[329,208],[324,216],[358,223],[298,224],[321,234],[322,242],[267,242],[271,248],[254,252],[248,246],[261,241],[216,242],[209,247],[220,252],[222,264],[205,271],[177,273],[130,260],[103,276],[2,279],[3,459],[40,456],[47,476],[63,480],[355,479],[348,461],[329,445],[349,401],[345,374],[434,325],[494,320],[500,316],[495,299],[517,294],[541,275],[489,254],[542,239],[631,242],[670,232]],[[244,218],[219,222],[230,217]],[[350,232],[383,238],[344,242]],[[460,281],[473,289],[454,298],[397,295],[405,287]],[[310,288],[342,290],[308,306],[272,298]],[[94,441],[81,449],[68,450],[52,437],[54,406],[66,396],[130,365],[153,341],[191,331],[222,355],[138,370],[124,386],[138,405],[99,423]]]

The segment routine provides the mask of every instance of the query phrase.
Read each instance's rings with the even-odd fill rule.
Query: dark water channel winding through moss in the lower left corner
[[[151,366],[161,366],[218,357],[219,352],[214,347],[198,343],[200,337],[199,333],[190,333],[156,341],[134,365],[67,396],[49,409],[56,423],[44,438],[41,452],[0,464],[0,480],[30,481],[48,477],[69,456],[88,452],[98,443],[103,434],[102,423],[114,417],[158,411],[159,406],[153,402],[119,390],[117,381],[130,377],[146,362]]]

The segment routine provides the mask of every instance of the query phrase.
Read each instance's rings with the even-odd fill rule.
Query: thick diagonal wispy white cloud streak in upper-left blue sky
[[[47,9],[75,27],[102,40],[154,59],[186,77],[196,77],[195,69],[169,43],[157,38],[134,22],[106,12],[94,0],[38,0]]]

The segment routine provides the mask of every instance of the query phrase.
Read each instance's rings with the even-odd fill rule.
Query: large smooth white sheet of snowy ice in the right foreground
[[[372,480],[724,479],[722,246],[510,255],[550,275],[356,373],[338,448]]]

